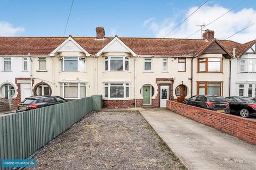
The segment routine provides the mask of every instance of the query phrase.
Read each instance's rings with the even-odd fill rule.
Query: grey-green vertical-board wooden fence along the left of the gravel
[[[95,95],[0,116],[0,160],[28,158],[86,114],[100,111],[101,105],[102,97]],[[4,169],[1,162],[0,167]]]

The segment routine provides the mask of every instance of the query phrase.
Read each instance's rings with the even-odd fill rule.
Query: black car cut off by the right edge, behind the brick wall
[[[256,115],[256,99],[252,97],[226,97],[230,104],[230,113],[240,114],[242,117]]]

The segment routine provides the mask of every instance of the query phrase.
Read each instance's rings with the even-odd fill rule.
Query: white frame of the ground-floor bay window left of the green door
[[[114,85],[114,84],[123,84],[123,85]],[[104,83],[104,98],[105,99],[115,99],[115,100],[124,100],[124,99],[129,99],[131,97],[131,83],[130,82],[107,82],[107,83]],[[110,87],[123,87],[123,98],[115,98],[115,97],[111,97],[111,94],[110,94]],[[106,88],[107,88],[107,95],[106,95]],[[127,96],[126,94],[126,88],[129,88],[129,94]]]

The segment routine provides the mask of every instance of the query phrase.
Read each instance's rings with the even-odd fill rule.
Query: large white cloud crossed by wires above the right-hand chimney
[[[185,17],[189,16],[189,14],[195,11],[196,8],[197,6],[189,8]],[[196,13],[191,15],[190,18],[183,22],[180,27],[171,32],[167,37],[186,38],[199,29],[199,27],[196,27],[196,25],[201,25],[203,23],[208,24],[214,19],[218,18],[220,15],[226,13],[228,10],[228,8],[219,5],[203,6]],[[229,12],[217,21],[205,27],[204,30],[214,30],[216,38],[225,39],[228,35],[242,30],[254,22],[256,22],[256,11],[253,10],[253,8],[243,8],[238,12]],[[179,22],[175,22],[175,18],[166,19],[162,22],[156,22],[154,18],[150,18],[144,21],[143,24],[148,27],[149,30],[153,31],[156,37],[164,37],[178,23]],[[231,37],[230,39],[245,43],[252,39],[256,39],[255,30],[256,24]],[[198,31],[190,38],[201,38],[200,31]]]

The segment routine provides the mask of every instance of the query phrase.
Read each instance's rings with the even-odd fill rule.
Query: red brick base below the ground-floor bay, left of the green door
[[[129,108],[134,107],[134,99],[131,100],[103,100],[104,108]],[[142,107],[142,99],[136,99],[136,107]]]

